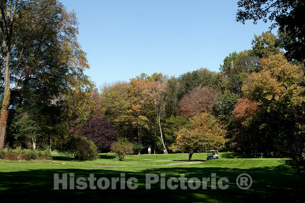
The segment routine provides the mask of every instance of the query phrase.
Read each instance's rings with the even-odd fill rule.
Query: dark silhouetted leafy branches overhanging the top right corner
[[[240,0],[236,21],[245,24],[246,20],[259,20],[265,23],[270,21],[269,27],[279,27],[285,33],[282,41],[283,48],[287,51],[285,56],[290,60],[303,61],[305,59],[305,29],[304,29],[304,0]]]

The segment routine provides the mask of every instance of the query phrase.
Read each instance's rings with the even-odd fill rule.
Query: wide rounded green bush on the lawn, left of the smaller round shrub
[[[70,140],[58,149],[60,154],[74,157],[78,160],[97,159],[98,148],[91,140],[85,137],[71,137]]]

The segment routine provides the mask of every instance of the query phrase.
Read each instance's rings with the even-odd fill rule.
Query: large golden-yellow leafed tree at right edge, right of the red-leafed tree
[[[242,87],[249,102],[240,101],[234,111],[238,123],[243,125],[240,129],[245,127],[244,132],[250,134],[256,132],[252,143],[260,144],[252,150],[268,155],[272,151],[282,152],[283,146],[287,146],[283,142],[290,142],[286,139],[301,133],[297,130],[303,125],[299,119],[303,117],[305,101],[304,73],[301,66],[287,61],[282,53],[262,58],[259,64],[261,71],[249,75]],[[256,115],[251,109],[255,109]]]

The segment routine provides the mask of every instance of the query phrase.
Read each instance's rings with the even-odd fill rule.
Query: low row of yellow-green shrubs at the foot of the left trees
[[[38,149],[0,149],[0,159],[6,160],[32,160],[32,159],[52,159],[49,151],[41,151]]]

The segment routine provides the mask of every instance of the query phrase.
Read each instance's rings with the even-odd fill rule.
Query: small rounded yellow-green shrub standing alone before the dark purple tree
[[[127,154],[132,154],[133,153],[133,145],[128,142],[127,140],[119,140],[116,142],[113,142],[111,146],[111,152],[117,154],[119,161],[124,161],[124,157]]]

